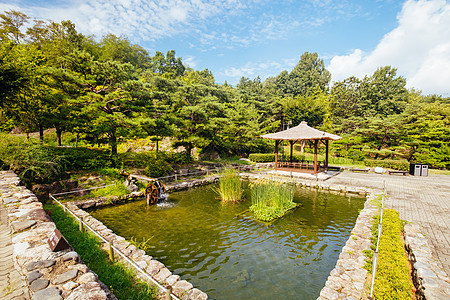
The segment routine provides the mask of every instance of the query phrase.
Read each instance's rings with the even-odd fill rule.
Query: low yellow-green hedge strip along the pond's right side
[[[412,299],[413,285],[409,262],[405,256],[402,230],[398,211],[384,210],[374,299]]]

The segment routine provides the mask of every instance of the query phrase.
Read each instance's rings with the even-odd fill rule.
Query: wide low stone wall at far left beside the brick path
[[[16,269],[27,278],[34,300],[116,299],[97,274],[70,249],[52,252],[56,229],[42,203],[10,171],[1,171],[1,202],[8,210]]]

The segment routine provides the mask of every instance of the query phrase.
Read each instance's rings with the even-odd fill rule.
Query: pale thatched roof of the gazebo
[[[264,139],[288,140],[288,141],[341,139],[341,137],[338,135],[309,127],[305,121],[301,122],[298,126],[276,133],[264,134],[261,137]]]

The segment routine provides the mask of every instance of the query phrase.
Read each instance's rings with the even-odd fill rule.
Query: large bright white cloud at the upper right
[[[450,94],[450,3],[408,0],[398,14],[398,26],[369,53],[360,49],[331,59],[333,81],[371,75],[390,65],[407,79],[407,87],[424,94]]]

